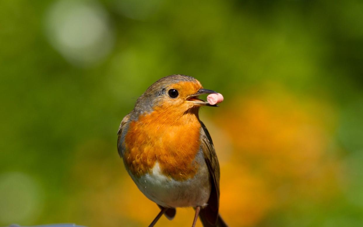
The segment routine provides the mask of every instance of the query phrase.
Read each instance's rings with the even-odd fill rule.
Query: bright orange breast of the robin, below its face
[[[200,123],[195,113],[176,117],[172,111],[154,112],[131,122],[125,137],[125,162],[132,174],[150,173],[157,161],[166,176],[192,178],[198,169],[193,162],[200,147]]]

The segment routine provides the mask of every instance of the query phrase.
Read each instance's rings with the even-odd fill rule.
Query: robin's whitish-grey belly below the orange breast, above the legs
[[[196,158],[201,161],[200,157]],[[197,174],[185,181],[175,181],[163,175],[158,162],[151,173],[140,178],[131,175],[131,178],[148,199],[163,207],[206,206],[211,194],[211,183],[207,165],[202,160]]]

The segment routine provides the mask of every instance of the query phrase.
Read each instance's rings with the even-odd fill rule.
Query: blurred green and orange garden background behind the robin
[[[117,129],[170,74],[201,110],[230,226],[363,226],[363,2],[0,3],[0,226],[147,226]],[[191,208],[158,226],[190,226]],[[201,226],[200,223],[198,223]]]

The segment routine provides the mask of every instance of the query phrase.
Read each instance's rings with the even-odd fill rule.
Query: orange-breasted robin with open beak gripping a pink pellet
[[[217,94],[190,76],[172,75],[138,98],[118,130],[118,153],[139,190],[172,220],[176,207],[193,207],[203,226],[227,226],[219,215],[219,163],[212,138],[199,119],[198,98]]]

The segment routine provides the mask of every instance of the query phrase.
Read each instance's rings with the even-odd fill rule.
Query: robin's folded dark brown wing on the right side
[[[218,218],[219,208],[219,163],[216,151],[213,146],[211,135],[203,122],[200,122],[203,130],[201,131],[201,147],[203,149],[205,162],[207,163],[209,175],[211,177],[211,195],[208,199],[208,206],[200,211],[201,215],[215,224]]]

